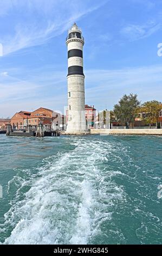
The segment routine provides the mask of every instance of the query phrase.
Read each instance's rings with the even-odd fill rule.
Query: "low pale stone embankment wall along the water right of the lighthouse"
[[[104,135],[162,135],[162,129],[91,129],[90,133]]]

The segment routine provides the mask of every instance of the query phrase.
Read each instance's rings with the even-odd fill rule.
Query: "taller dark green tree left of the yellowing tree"
[[[124,95],[118,104],[114,106],[114,114],[118,121],[125,123],[126,126],[129,123],[134,123],[134,119],[137,116],[136,109],[140,106],[140,101],[137,98],[137,94]]]

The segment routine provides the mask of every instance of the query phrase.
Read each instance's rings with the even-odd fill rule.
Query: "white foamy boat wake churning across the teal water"
[[[20,200],[20,187],[18,201],[5,214],[4,227],[14,228],[4,243],[86,244],[103,221],[112,219],[112,207],[125,202],[124,188],[108,178],[103,164],[109,161],[112,145],[75,137],[70,143],[74,150],[44,160],[38,176],[22,180],[21,187],[31,188]]]

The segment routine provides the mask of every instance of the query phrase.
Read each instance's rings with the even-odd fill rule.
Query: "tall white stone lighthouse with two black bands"
[[[68,133],[84,133],[85,118],[85,75],[83,74],[83,45],[85,40],[76,23],[68,31]]]

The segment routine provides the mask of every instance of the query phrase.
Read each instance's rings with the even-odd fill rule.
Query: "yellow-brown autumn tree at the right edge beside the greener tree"
[[[142,120],[145,120],[151,125],[158,123],[159,112],[161,110],[161,103],[157,100],[146,101],[138,109],[138,112],[142,114]]]

